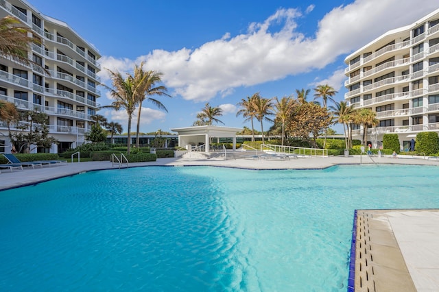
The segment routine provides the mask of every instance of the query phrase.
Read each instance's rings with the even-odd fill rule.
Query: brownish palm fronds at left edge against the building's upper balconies
[[[32,29],[21,25],[21,22],[12,16],[0,19],[0,54],[25,66],[38,66],[50,75],[47,69],[27,57],[27,52],[32,49],[31,44],[40,44],[38,38],[28,36],[29,33],[32,33]]]

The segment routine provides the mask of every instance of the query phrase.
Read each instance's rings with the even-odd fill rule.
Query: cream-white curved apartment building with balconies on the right
[[[344,62],[344,98],[377,113],[379,125],[367,129],[374,147],[385,133],[398,134],[407,149],[418,132],[439,132],[439,10],[386,32]],[[363,130],[355,127],[355,138]]]

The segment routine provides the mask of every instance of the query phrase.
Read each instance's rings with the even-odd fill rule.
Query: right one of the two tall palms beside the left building
[[[147,100],[152,102],[154,106],[161,110],[165,110],[167,112],[167,109],[163,104],[158,101],[157,99],[154,99],[150,96],[152,95],[158,95],[158,96],[167,96],[168,95],[167,88],[163,85],[156,86],[157,83],[160,83],[161,77],[163,76],[163,73],[156,72],[156,71],[143,71],[143,64],[144,62],[141,62],[139,66],[134,67],[134,99],[139,104],[139,113],[137,114],[137,131],[136,131],[136,147],[139,147],[140,143],[140,119],[141,119],[141,110],[142,110],[142,104],[143,101]]]

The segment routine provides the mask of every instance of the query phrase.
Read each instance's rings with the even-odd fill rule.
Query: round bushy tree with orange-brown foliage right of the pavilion
[[[288,121],[289,132],[318,147],[316,138],[332,124],[333,117],[326,108],[312,102],[300,104]],[[311,138],[310,138],[311,136]]]

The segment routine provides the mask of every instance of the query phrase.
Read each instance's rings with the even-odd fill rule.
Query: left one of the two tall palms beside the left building
[[[123,78],[121,73],[111,71],[106,69],[110,73],[110,78],[112,80],[112,88],[103,84],[108,90],[110,90],[110,95],[115,101],[112,101],[110,106],[103,106],[102,108],[113,108],[115,110],[121,110],[122,108],[126,110],[128,114],[128,141],[127,141],[127,154],[130,155],[131,150],[131,121],[132,114],[136,110],[136,100],[134,99],[134,80],[131,75],[128,74],[126,79]]]

